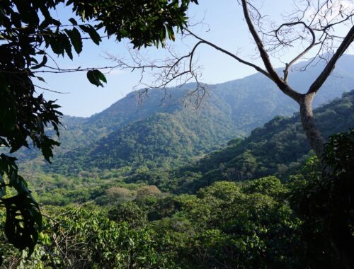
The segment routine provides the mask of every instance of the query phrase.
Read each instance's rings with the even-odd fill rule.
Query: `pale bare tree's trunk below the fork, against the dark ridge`
[[[314,99],[314,95],[315,93],[304,94],[300,98],[300,117],[310,146],[319,160],[322,160],[325,140],[317,128],[316,122],[314,121],[314,113],[312,113],[312,100]]]

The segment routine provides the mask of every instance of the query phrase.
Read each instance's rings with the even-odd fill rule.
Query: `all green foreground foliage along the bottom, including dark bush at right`
[[[325,180],[312,157],[287,183],[219,181],[194,195],[113,188],[105,206],[46,206],[32,256],[2,243],[3,267],[341,268],[328,235],[354,238],[354,131],[325,152]]]

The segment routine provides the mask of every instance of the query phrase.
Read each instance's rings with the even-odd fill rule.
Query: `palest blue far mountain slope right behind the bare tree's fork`
[[[354,55],[341,57],[336,69],[316,95],[314,108],[354,89],[353,63]],[[299,71],[306,64],[308,62],[295,65],[290,73],[290,85],[300,92],[307,91],[314,78],[324,68],[324,62],[318,62],[315,66],[307,67],[306,71]],[[282,69],[278,69],[278,73],[281,76]],[[246,132],[251,132],[276,115],[291,115],[299,110],[297,103],[279,91],[273,81],[263,74],[254,74],[210,88],[212,96],[216,96],[224,105],[224,109],[229,110],[235,126]]]

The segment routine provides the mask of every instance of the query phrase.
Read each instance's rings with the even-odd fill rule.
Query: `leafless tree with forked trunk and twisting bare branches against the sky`
[[[154,74],[156,81],[145,91],[148,91],[149,88],[166,88],[171,81],[176,79],[185,79],[185,81],[194,79],[197,82],[197,87],[193,93],[196,94],[195,102],[197,104],[202,100],[206,90],[205,85],[199,81],[198,70],[193,67],[193,57],[201,45],[215,48],[215,50],[232,57],[237,62],[253,67],[273,81],[282,93],[299,104],[302,127],[310,146],[321,162],[323,170],[321,178],[322,181],[325,181],[328,176],[333,174],[333,167],[328,164],[328,159],[324,158],[325,139],[316,125],[312,111],[312,101],[335,68],[338,59],[353,43],[353,1],[294,1],[295,10],[284,16],[281,23],[270,21],[268,16],[263,16],[261,9],[257,8],[251,0],[239,0],[238,2],[241,5],[244,21],[256,47],[257,56],[263,62],[263,66],[258,66],[239,57],[236,53],[224,50],[214,42],[193,33],[193,28],[189,27],[183,29],[183,35],[184,37],[194,38],[196,41],[187,54],[180,56],[176,55],[176,52],[171,52],[171,57],[162,64],[161,61],[142,63],[135,58],[133,58],[134,64],[127,64],[117,59],[118,66],[141,69],[143,73],[148,68],[159,70],[157,74]],[[341,31],[338,31],[338,28],[341,28]],[[339,34],[343,32],[343,29],[346,30],[346,34]],[[286,53],[292,47],[299,47],[300,51],[285,64],[282,74],[279,74],[280,72],[273,65],[273,59],[278,57],[280,52]],[[307,88],[307,91],[301,93],[292,88],[288,79],[290,69],[304,57],[309,57],[311,59],[310,63],[317,59],[325,59],[326,64],[319,76]],[[305,70],[306,67],[303,68],[303,71]],[[353,253],[350,253],[351,249],[343,244],[345,244],[343,241],[333,240],[337,257],[342,259],[343,267],[350,268],[354,264]]]

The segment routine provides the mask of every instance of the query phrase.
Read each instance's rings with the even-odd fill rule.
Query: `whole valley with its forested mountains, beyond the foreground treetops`
[[[326,137],[354,127],[354,93],[345,93],[354,85],[353,57],[341,59],[316,99],[318,107],[337,98],[315,110]],[[320,67],[295,73],[295,88],[304,87]],[[333,91],[336,85],[341,91]],[[259,74],[209,86],[200,108],[183,105],[193,86],[170,88],[167,96],[152,90],[142,103],[137,92],[130,93],[91,118],[64,116],[52,164],[33,158],[32,150],[20,153],[23,175],[40,202],[67,205],[107,200],[105,195],[121,200],[112,188],[144,185],[192,194],[216,181],[278,176],[286,182],[313,155],[295,103]]]

